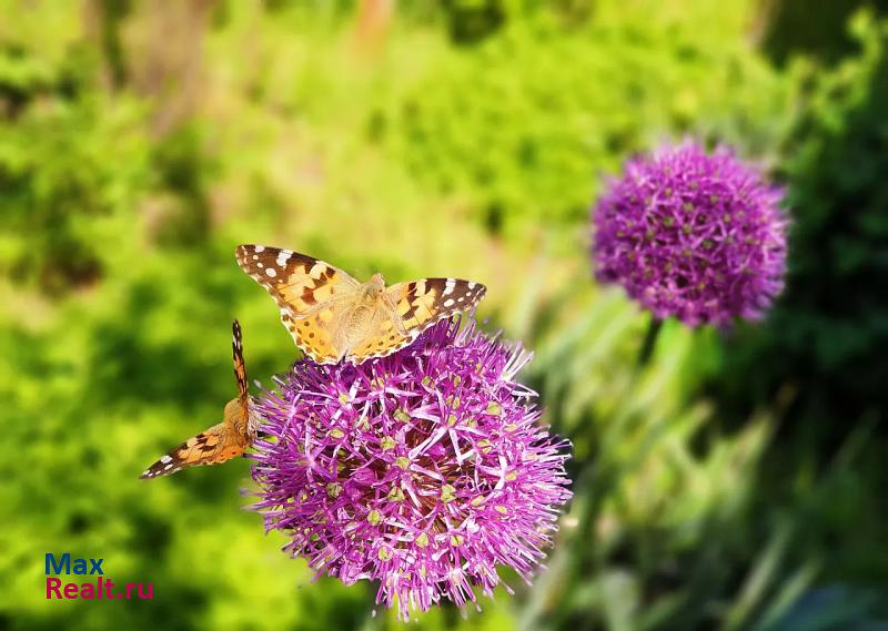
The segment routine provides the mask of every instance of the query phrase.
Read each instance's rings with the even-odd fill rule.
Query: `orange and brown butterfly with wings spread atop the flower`
[[[382,274],[361,283],[304,254],[240,245],[238,264],[265,287],[293,342],[319,364],[360,364],[404,348],[433,324],[472,309],[481,283],[422,278],[385,286]]]

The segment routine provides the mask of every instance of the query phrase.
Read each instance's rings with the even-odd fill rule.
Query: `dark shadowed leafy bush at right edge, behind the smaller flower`
[[[763,335],[737,336],[726,379],[756,403],[794,380],[827,445],[888,410],[888,27],[861,17],[856,33],[864,52],[814,79],[788,141],[786,293]]]

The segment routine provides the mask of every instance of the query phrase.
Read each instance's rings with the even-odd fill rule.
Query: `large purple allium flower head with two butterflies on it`
[[[492,596],[496,566],[529,582],[571,497],[567,441],[514,380],[519,347],[442,322],[357,366],[297,362],[255,411],[255,508],[284,550],[407,619],[442,597]],[[508,589],[508,588],[506,588]]]

